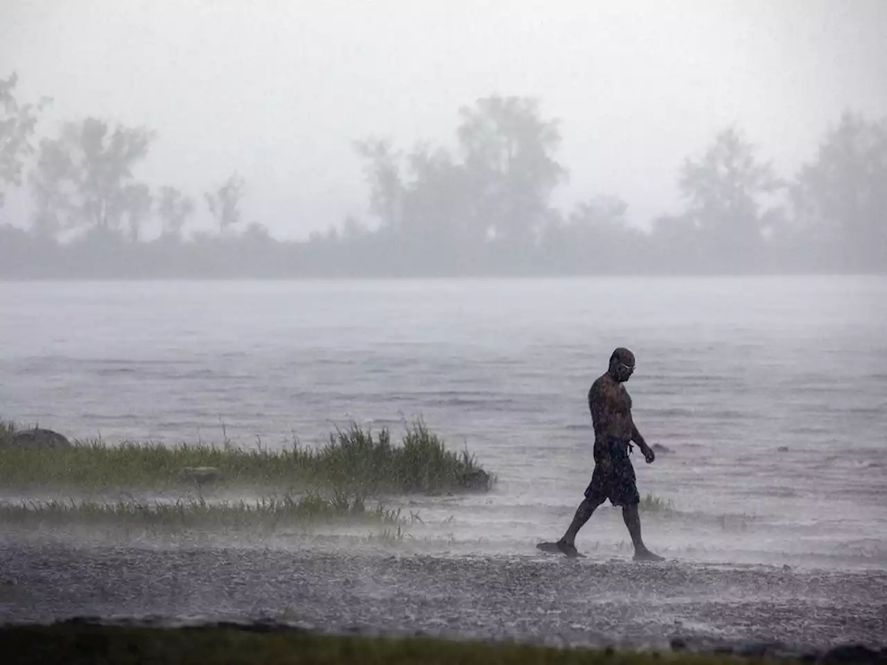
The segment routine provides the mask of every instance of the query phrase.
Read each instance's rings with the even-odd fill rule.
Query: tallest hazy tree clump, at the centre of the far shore
[[[388,140],[355,143],[371,212],[412,249],[434,246],[442,256],[449,249],[465,258],[460,250],[491,237],[499,246],[532,246],[566,176],[553,160],[556,122],[540,117],[533,98],[481,98],[459,113],[455,155],[420,144],[404,157]]]

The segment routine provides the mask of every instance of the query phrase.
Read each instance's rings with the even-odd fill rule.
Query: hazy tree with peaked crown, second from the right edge
[[[758,162],[755,147],[732,127],[718,133],[702,159],[687,158],[679,176],[685,217],[718,265],[748,265],[761,252],[767,225],[776,218],[764,201],[781,186],[770,162]]]

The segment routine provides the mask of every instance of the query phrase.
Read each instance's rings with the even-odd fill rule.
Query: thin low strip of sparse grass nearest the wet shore
[[[23,501],[0,505],[0,522],[29,527],[127,526],[140,528],[237,528],[263,531],[321,521],[360,521],[400,528],[399,511],[367,509],[363,498],[344,495],[260,498],[255,502],[210,503],[204,498],[175,502]]]

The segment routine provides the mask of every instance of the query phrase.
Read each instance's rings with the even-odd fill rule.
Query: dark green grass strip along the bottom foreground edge
[[[441,638],[381,638],[318,635],[304,630],[243,630],[237,626],[154,628],[77,625],[5,626],[0,643],[21,665],[39,663],[316,663],[406,665],[462,663],[496,665],[665,665],[735,663],[729,654],[635,652],[562,648],[512,642],[455,641]],[[758,662],[763,662],[758,660]],[[781,662],[788,662],[788,659]]]

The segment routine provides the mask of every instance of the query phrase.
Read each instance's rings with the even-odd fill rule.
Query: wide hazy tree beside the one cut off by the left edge
[[[154,137],[140,127],[111,132],[105,121],[87,118],[67,122],[58,138],[44,138],[31,179],[35,223],[116,232],[127,222],[137,237],[150,192],[133,168],[145,160]]]

